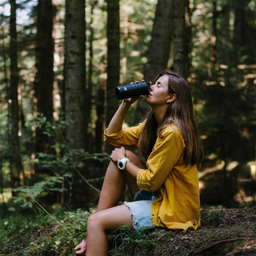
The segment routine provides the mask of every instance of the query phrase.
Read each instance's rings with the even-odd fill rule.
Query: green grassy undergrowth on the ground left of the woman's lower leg
[[[58,222],[42,211],[36,215],[27,212],[1,218],[0,255],[62,255],[63,251],[70,252],[63,255],[75,255],[74,239],[84,238],[90,212],[63,210],[54,210]]]

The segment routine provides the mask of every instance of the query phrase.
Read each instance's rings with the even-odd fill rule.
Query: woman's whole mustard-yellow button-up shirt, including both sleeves
[[[136,148],[144,123],[107,135],[105,141],[115,147]],[[196,166],[183,160],[185,143],[175,125],[166,125],[157,137],[147,159],[147,169],[137,174],[140,189],[157,191],[151,218],[154,227],[174,230],[195,229],[200,225],[200,198]]]

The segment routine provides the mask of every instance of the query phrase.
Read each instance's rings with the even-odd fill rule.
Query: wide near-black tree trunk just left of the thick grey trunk
[[[38,0],[37,36],[36,36],[36,111],[42,113],[49,122],[52,122],[53,113],[53,49],[52,40],[53,11],[52,0]],[[51,141],[41,129],[36,129],[36,152],[47,153]]]

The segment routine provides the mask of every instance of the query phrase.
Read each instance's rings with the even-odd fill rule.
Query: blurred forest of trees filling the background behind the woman
[[[255,10],[250,0],[1,0],[1,202],[48,180],[47,203],[95,203],[115,86],[168,68],[193,92],[202,202],[255,204]],[[140,100],[125,127],[145,113]]]

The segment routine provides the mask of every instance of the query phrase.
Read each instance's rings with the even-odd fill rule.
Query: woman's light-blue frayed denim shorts
[[[151,206],[157,197],[152,192],[140,190],[134,197],[134,202],[124,202],[129,207],[132,223],[135,229],[152,228]]]

